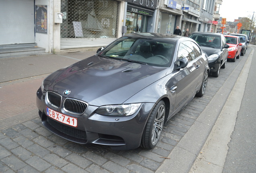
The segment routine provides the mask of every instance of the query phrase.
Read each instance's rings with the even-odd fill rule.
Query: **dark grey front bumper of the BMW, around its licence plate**
[[[108,145],[111,149],[135,149],[140,146],[142,133],[154,103],[143,103],[134,114],[126,117],[110,117],[98,115],[96,106],[89,105],[82,115],[73,115],[63,109],[56,109],[45,101],[41,88],[36,99],[39,116],[43,125],[52,133],[81,144]],[[46,107],[64,115],[75,117],[77,127],[71,127],[46,115]]]

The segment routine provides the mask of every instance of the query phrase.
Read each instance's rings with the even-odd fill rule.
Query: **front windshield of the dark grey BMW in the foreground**
[[[122,37],[99,54],[152,66],[170,66],[175,43],[153,38]]]

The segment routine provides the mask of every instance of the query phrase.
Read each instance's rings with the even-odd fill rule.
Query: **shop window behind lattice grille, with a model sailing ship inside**
[[[116,38],[118,8],[114,0],[61,0],[61,38]]]

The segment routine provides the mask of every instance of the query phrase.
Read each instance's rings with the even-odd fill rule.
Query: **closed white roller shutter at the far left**
[[[0,7],[0,45],[34,43],[34,0],[0,0]]]

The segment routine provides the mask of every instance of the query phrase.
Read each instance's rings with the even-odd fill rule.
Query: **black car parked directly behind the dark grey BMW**
[[[190,36],[195,40],[204,52],[206,52],[209,60],[210,72],[214,77],[219,76],[220,68],[225,68],[229,45],[223,34],[210,32],[193,32]]]

